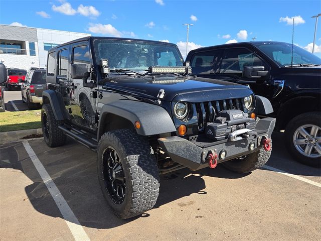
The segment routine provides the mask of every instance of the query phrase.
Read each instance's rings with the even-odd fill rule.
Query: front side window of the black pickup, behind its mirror
[[[232,48],[224,51],[220,73],[241,77],[244,66],[264,66],[267,69],[267,65],[246,48]]]

